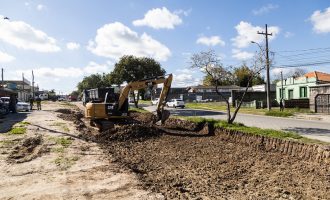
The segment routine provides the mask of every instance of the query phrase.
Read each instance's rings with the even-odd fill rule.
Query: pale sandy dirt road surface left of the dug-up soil
[[[79,139],[73,123],[57,117],[60,108],[74,107],[43,104],[15,125],[25,134],[0,134],[0,199],[163,199],[99,145]]]

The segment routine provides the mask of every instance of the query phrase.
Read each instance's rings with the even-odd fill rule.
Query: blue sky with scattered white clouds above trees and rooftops
[[[226,66],[249,63],[258,50],[250,41],[263,43],[256,32],[266,23],[274,34],[274,65],[329,57],[326,0],[0,0],[0,5],[0,66],[5,79],[24,73],[31,80],[33,69],[43,89],[70,92],[84,76],[110,72],[125,54],[154,57],[174,74],[174,86],[196,85],[203,74],[189,69],[193,53],[214,49]],[[285,52],[315,48],[297,51],[310,53],[307,58]],[[329,65],[305,68],[330,72]]]

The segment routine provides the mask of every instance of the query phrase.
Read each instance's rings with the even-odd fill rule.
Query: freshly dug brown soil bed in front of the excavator
[[[281,141],[219,130],[206,134],[177,120],[166,125],[175,129],[169,130],[139,121],[145,118],[140,114],[133,116],[133,124],[82,136],[101,143],[117,162],[137,173],[146,188],[167,199],[330,197],[330,164],[277,151]],[[283,142],[286,145],[289,148]]]

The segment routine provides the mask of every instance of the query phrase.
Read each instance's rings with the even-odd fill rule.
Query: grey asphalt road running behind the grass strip
[[[155,111],[155,106],[144,107],[148,111]],[[171,115],[177,116],[197,116],[213,119],[226,119],[226,113],[208,110],[195,110],[195,109],[181,109],[181,108],[167,108],[170,110]],[[259,128],[270,128],[284,131],[293,131],[302,136],[318,139],[330,143],[330,123],[291,119],[281,117],[270,117],[261,115],[251,115],[238,113],[235,122],[241,122],[246,126],[255,126]]]

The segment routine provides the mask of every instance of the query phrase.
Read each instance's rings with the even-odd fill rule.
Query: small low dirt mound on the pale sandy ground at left
[[[20,144],[13,147],[8,155],[9,162],[29,162],[42,153],[47,152],[47,148],[42,146],[43,139],[41,135],[24,139]]]

